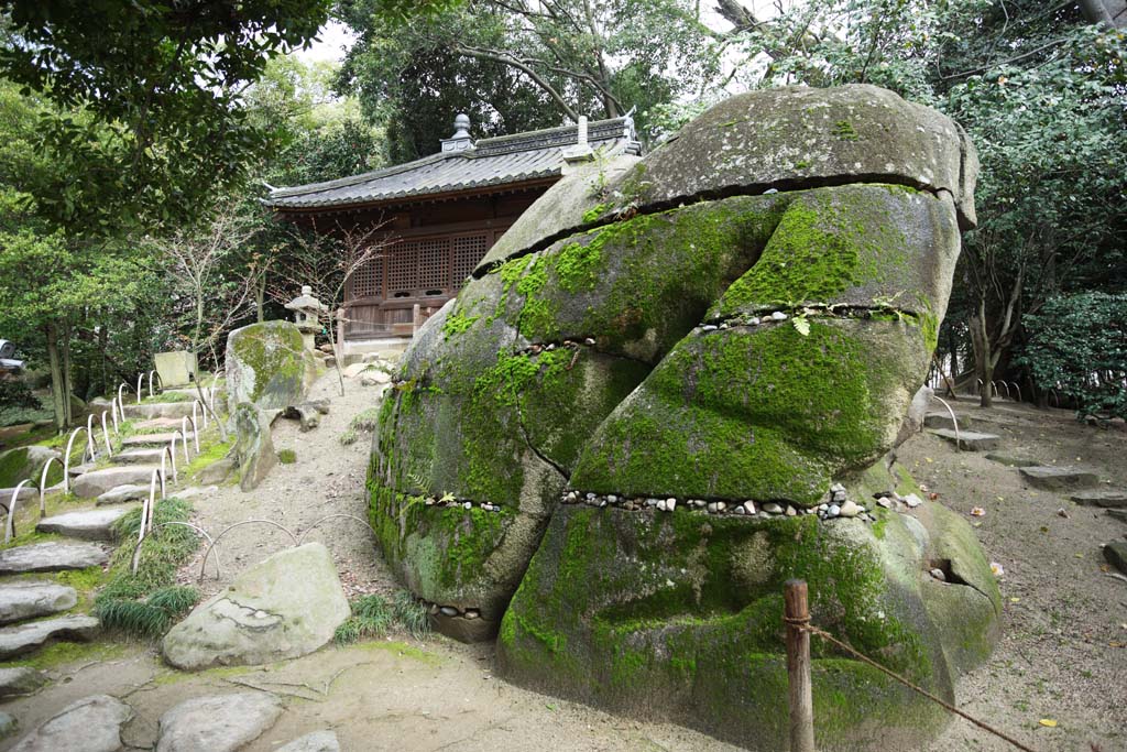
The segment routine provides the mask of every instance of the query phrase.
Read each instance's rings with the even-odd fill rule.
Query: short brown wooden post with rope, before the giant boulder
[[[783,622],[787,625],[787,673],[790,684],[790,752],[815,752],[814,702],[810,682],[810,635],[844,651],[861,663],[872,666],[912,691],[939,705],[948,713],[969,720],[978,728],[1012,744],[1015,749],[1023,752],[1037,752],[1006,733],[994,728],[986,722],[958,709],[942,698],[935,697],[895,671],[886,669],[869,656],[854,649],[849,643],[844,643],[826,630],[811,625],[805,581],[788,580],[783,587],[786,604]]]

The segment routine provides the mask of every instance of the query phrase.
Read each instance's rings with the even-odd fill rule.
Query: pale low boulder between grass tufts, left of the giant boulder
[[[336,566],[321,543],[261,561],[198,605],[165,637],[178,669],[257,665],[312,653],[350,616]]]

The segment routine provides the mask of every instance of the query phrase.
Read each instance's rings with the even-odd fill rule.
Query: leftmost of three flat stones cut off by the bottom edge
[[[133,717],[133,708],[108,695],[94,695],[71,702],[19,741],[12,752],[117,752],[122,726]]]

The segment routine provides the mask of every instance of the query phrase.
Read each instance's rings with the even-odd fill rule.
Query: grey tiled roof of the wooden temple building
[[[279,212],[336,209],[559,177],[564,150],[577,140],[577,125],[482,139],[463,151],[444,151],[338,180],[277,188],[264,203]],[[639,150],[629,117],[589,123],[587,141],[607,154]]]

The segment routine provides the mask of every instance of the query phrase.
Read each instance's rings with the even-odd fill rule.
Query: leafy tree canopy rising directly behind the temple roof
[[[478,135],[616,117],[700,96],[719,71],[691,0],[469,0],[407,21],[341,0],[360,35],[338,82],[387,125],[393,161],[437,150],[458,112]]]

